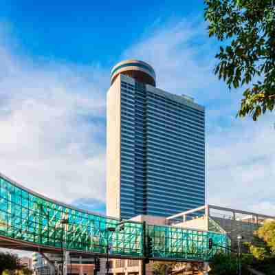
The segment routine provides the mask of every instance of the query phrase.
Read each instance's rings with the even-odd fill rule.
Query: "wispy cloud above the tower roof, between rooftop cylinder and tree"
[[[211,73],[212,47],[201,21],[170,21],[148,31],[143,39],[126,50],[124,58],[140,58],[153,65],[157,87],[175,94],[210,100],[209,87],[216,83]],[[216,83],[217,84],[217,83]],[[202,87],[204,89],[202,89]]]

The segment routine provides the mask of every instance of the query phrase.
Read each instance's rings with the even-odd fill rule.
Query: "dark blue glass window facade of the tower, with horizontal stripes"
[[[203,107],[146,87],[121,82],[122,219],[205,204]]]

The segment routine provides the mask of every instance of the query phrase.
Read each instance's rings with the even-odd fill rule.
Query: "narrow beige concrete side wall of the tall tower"
[[[120,217],[120,76],[107,92],[107,215]]]

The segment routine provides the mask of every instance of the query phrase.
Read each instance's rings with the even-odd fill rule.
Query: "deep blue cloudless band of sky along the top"
[[[202,14],[202,1],[182,2],[4,0],[0,16],[12,23],[24,53],[111,66],[148,26],[171,16]]]

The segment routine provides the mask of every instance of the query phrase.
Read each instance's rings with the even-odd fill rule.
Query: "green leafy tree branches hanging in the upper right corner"
[[[275,0],[204,0],[209,36],[222,41],[214,74],[246,87],[238,115],[257,120],[275,103]]]

